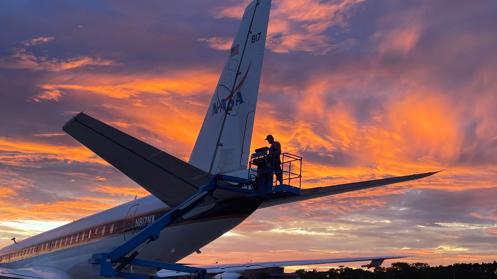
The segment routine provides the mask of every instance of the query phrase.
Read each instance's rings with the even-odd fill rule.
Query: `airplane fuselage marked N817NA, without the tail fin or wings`
[[[138,258],[175,263],[236,227],[260,204],[240,197],[200,206],[163,229],[159,240],[147,245]],[[91,254],[120,245],[169,210],[152,195],[107,209],[4,247],[0,267],[50,266],[74,279],[89,278]]]

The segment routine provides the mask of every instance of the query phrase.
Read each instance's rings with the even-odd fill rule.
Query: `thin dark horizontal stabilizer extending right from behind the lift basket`
[[[350,191],[356,191],[356,190],[368,189],[368,188],[373,188],[373,187],[378,187],[378,186],[384,186],[384,185],[388,185],[388,184],[400,183],[400,182],[410,181],[410,180],[414,180],[414,179],[420,179],[420,178],[424,178],[424,177],[433,175],[433,174],[438,173],[438,172],[440,172],[440,171],[420,173],[420,174],[412,174],[412,175],[406,175],[406,176],[389,177],[389,178],[382,178],[382,179],[375,179],[375,180],[368,180],[368,181],[361,181],[361,182],[352,182],[352,183],[345,183],[345,184],[326,186],[326,187],[302,189],[300,191],[300,196],[267,201],[267,202],[262,203],[262,205],[259,207],[259,209],[283,205],[283,204],[288,204],[288,203],[293,203],[293,202],[300,202],[300,201],[305,201],[305,200],[319,198],[319,197],[331,196],[331,195],[336,195],[336,194],[350,192]]]

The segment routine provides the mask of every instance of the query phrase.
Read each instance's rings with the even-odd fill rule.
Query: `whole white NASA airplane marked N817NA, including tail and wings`
[[[92,255],[95,253],[122,247],[137,239],[142,232],[152,229],[159,223],[159,220],[189,206],[188,203],[193,201],[192,197],[197,195],[204,186],[209,185],[212,179],[218,179],[220,175],[232,177],[232,180],[249,177],[250,140],[270,7],[271,0],[253,0],[245,9],[188,162],[135,139],[83,112],[74,116],[63,126],[62,131],[145,188],[151,195],[2,248],[0,250],[0,278],[89,279],[94,276],[93,266],[99,263],[97,261],[99,259],[94,260],[91,262],[90,269],[89,259],[93,259]],[[135,256],[139,255],[134,259],[135,263],[137,260],[178,263],[194,252],[199,253],[199,249],[235,228],[257,209],[410,181],[435,173],[437,172],[328,187],[308,189],[299,187],[298,195],[264,199],[249,197],[250,195],[244,194],[245,192],[241,189],[238,190],[239,192],[231,191],[227,187],[231,187],[233,183],[227,183],[227,187],[210,191],[209,196],[202,196],[202,203],[198,203],[198,206],[181,211],[182,213],[175,219],[171,219],[164,227],[161,227],[158,230],[160,233],[152,237],[155,241],[153,245],[135,247],[130,250],[130,253],[134,253]],[[369,266],[374,267],[385,259],[397,258],[402,258],[402,256],[247,263],[244,265],[217,264],[201,265],[200,268],[212,273],[232,272],[233,278],[239,278],[237,271],[248,270],[251,267],[282,267],[353,261],[371,261]],[[126,269],[131,268],[131,261],[131,259],[128,261]],[[116,263],[119,264],[118,261],[112,264]],[[161,267],[164,266],[161,265]],[[180,265],[176,264],[176,268],[177,266]],[[190,267],[192,266],[186,265],[185,269]],[[182,274],[174,269],[172,271],[167,268],[162,269],[163,271],[158,272],[158,268],[154,266],[137,267],[132,270],[131,275],[127,273],[126,276],[134,279],[143,278],[133,277],[134,273],[145,273],[152,277],[174,277]],[[116,274],[110,277],[116,277]]]

